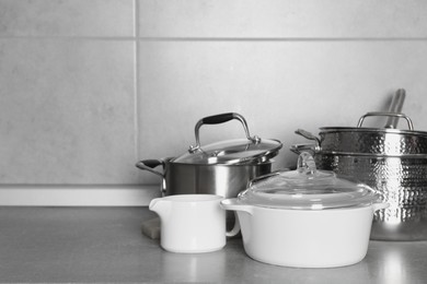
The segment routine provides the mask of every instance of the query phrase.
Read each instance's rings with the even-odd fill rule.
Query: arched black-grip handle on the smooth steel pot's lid
[[[219,123],[224,123],[228,122],[232,119],[239,120],[244,129],[244,132],[246,134],[247,140],[252,141],[253,143],[258,143],[261,141],[261,138],[257,135],[251,137],[246,120],[244,119],[243,116],[236,114],[236,113],[226,113],[226,114],[220,114],[220,115],[215,115],[215,116],[209,116],[201,118],[199,121],[197,121],[194,132],[196,135],[196,145],[195,146],[189,146],[189,152],[194,153],[200,149],[200,135],[199,135],[199,129],[203,125],[219,125]]]

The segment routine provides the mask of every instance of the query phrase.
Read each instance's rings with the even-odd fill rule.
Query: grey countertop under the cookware
[[[141,235],[147,208],[0,208],[0,282],[427,283],[427,241],[370,241],[359,263],[292,269],[220,251],[171,253]]]

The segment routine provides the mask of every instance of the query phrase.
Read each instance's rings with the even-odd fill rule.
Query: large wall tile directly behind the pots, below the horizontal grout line
[[[146,108],[139,113],[141,153],[185,151],[194,142],[194,121],[235,110],[252,132],[281,140],[276,162],[292,166],[296,155],[288,147],[304,142],[296,129],[316,133],[319,127],[355,127],[365,113],[386,110],[399,87],[407,91],[404,109],[415,126],[427,129],[422,75],[427,42],[155,42],[140,48],[140,60],[150,66],[139,81],[139,108]],[[162,116],[166,121],[153,128],[153,118]],[[218,131],[227,139],[227,129],[205,133],[214,139]]]

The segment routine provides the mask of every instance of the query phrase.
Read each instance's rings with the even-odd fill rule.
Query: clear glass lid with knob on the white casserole
[[[238,197],[239,203],[298,210],[360,206],[377,200],[374,190],[367,185],[318,170],[308,152],[300,154],[297,170],[259,177]]]

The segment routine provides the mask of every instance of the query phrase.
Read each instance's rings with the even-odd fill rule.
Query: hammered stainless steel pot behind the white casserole
[[[408,130],[363,128],[369,116],[404,118]],[[382,194],[390,208],[376,212],[371,239],[427,239],[427,132],[415,131],[407,116],[394,113],[368,113],[356,128],[320,130],[320,138],[297,130],[315,143],[291,150],[311,150],[319,168],[353,176]]]

